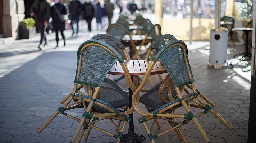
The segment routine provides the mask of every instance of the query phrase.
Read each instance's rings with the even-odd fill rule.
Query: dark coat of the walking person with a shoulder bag
[[[65,30],[65,23],[60,21],[59,15],[56,11],[56,8],[59,10],[60,14],[67,14],[66,7],[61,4],[57,3],[51,8],[51,17],[52,17],[52,26],[53,29],[56,30]]]

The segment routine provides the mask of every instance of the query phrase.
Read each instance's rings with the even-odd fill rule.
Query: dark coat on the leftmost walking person
[[[40,2],[40,9],[38,4]],[[51,16],[51,6],[46,0],[35,0],[32,4],[29,13],[35,13],[35,20],[37,21],[49,21]]]

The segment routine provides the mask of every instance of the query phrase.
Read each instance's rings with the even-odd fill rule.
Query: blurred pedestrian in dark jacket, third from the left
[[[76,34],[78,34],[78,23],[79,23],[79,16],[81,14],[82,10],[82,4],[79,0],[72,0],[69,4],[69,16],[71,20],[71,28],[73,30],[72,36],[74,35],[74,23],[77,23],[77,31]]]

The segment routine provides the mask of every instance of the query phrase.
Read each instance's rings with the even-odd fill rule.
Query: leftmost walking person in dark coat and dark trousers
[[[43,40],[45,41],[44,46],[47,45],[46,35],[44,33],[45,25],[49,22],[51,15],[51,6],[46,0],[35,0],[30,8],[30,15],[36,20],[36,27],[41,33],[41,38],[38,48],[41,50],[43,47]]]

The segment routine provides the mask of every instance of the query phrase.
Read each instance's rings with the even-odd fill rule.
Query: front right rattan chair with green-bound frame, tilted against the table
[[[152,68],[157,60],[160,61],[160,63],[164,66],[168,73],[163,82],[159,83],[159,90],[161,92],[161,88],[166,88],[167,95],[165,95],[165,97],[167,97],[169,101],[165,103],[163,100],[158,100],[158,102],[156,102],[155,100],[148,100],[147,103],[144,104],[146,104],[148,107],[151,107],[152,110],[151,112],[145,112],[141,110],[137,105],[137,94],[145,86],[150,75],[150,72],[152,71]],[[190,85],[192,88],[192,92],[182,96],[181,92],[183,91],[185,85]],[[152,90],[152,92],[156,91],[157,86],[154,90]],[[151,93],[151,95],[153,94]],[[160,99],[163,99],[163,97],[161,97],[162,95],[159,94]],[[195,98],[199,102],[195,101]],[[140,102],[141,99],[142,98],[140,98]],[[190,102],[193,102],[195,104],[191,104]],[[204,137],[205,141],[207,143],[210,142],[209,138],[207,137],[201,125],[198,123],[196,119],[197,117],[200,117],[201,115],[207,112],[211,112],[212,114],[214,114],[215,117],[218,118],[229,130],[232,129],[232,127],[227,122],[225,122],[223,118],[221,118],[209,105],[207,105],[204,102],[204,100],[201,99],[200,96],[198,96],[197,90],[194,85],[192,71],[187,57],[187,46],[181,40],[174,40],[172,42],[169,42],[157,52],[157,54],[154,56],[152,62],[147,68],[147,72],[142,80],[142,83],[133,93],[132,103],[136,112],[142,115],[142,117],[138,119],[138,122],[143,123],[148,134],[148,137],[150,138],[152,143],[155,143],[154,139],[159,137],[160,135],[168,133],[171,130],[179,129],[180,126],[188,123],[191,120],[194,122],[197,129]],[[183,107],[186,110],[187,114],[176,114],[175,109],[179,107]],[[193,113],[190,110],[190,107],[204,109],[204,111],[197,115],[193,115]],[[175,120],[175,118],[184,118],[185,120],[182,123],[178,123],[177,120]],[[146,123],[147,121],[152,119],[167,120],[173,127],[153,136]],[[184,142],[186,142],[186,139],[184,138],[184,135],[181,132],[177,132],[177,134],[180,140],[184,140]]]

